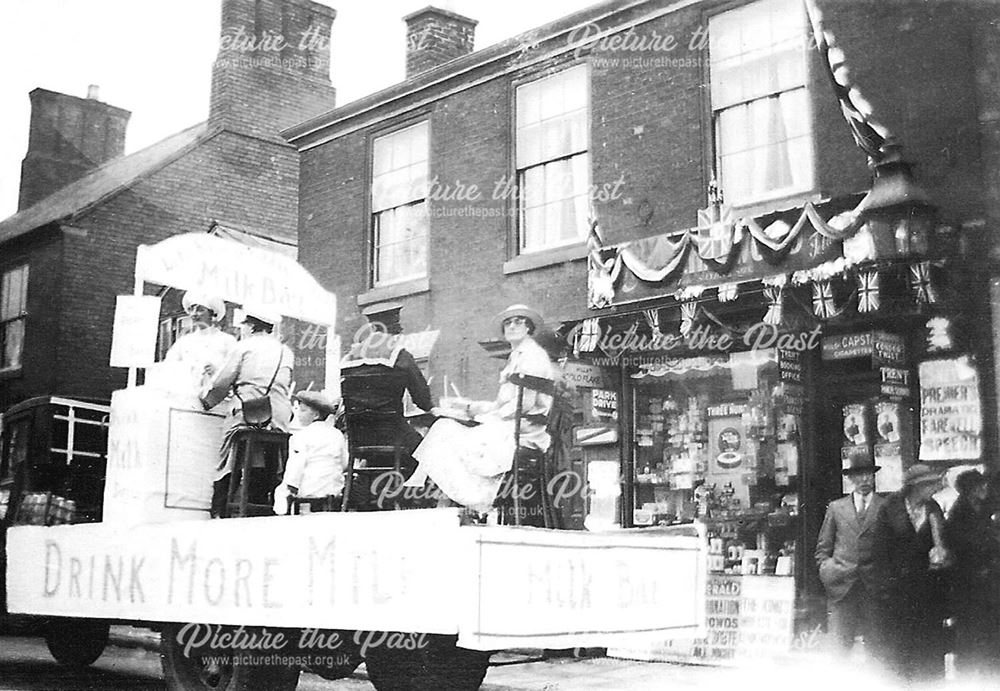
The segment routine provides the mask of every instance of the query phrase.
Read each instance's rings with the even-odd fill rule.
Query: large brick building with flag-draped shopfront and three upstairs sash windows
[[[997,5],[815,4],[807,16],[799,0],[607,2],[475,52],[472,20],[428,8],[406,18],[405,81],[284,132],[301,152],[303,263],[344,305],[401,301],[407,330],[440,329],[435,393],[447,377],[466,396],[494,394],[491,318],[514,302],[561,334],[818,328],[807,352],[771,349],[759,367],[737,353],[699,361],[694,347],[568,365],[591,378],[580,428],[613,428],[605,446],[574,451],[595,472],[613,464],[612,485],[620,473],[606,517],[690,518],[716,456],[742,459],[744,475],[720,472],[718,489],[729,477],[744,510],[795,519],[772,536],[785,551],[757,546],[768,573],[794,572],[813,614],[811,550],[848,454],[893,468],[882,490],[918,456],[942,469],[995,456],[1000,220]],[[928,345],[934,318],[953,342]],[[340,336],[361,323],[345,307]],[[853,334],[860,349],[845,349]],[[952,356],[974,363],[961,370],[976,384],[969,422],[944,423],[968,427],[963,450],[931,448],[947,413],[921,395]],[[685,378],[715,365],[731,385]],[[755,430],[756,457],[716,446],[720,420],[733,448]],[[886,431],[899,428],[902,440]]]

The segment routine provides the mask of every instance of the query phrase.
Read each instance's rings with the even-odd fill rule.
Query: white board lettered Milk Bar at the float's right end
[[[703,526],[479,529],[459,645],[572,648],[704,635]]]

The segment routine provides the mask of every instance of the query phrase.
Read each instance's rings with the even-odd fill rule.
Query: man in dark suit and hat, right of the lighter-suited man
[[[872,566],[879,583],[885,661],[907,681],[943,681],[945,579],[950,562],[944,516],[932,498],[941,471],[917,463],[903,474],[903,489],[886,498],[872,536]]]

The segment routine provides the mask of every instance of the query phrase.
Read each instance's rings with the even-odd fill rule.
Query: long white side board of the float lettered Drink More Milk
[[[456,511],[7,533],[11,612],[455,633]]]

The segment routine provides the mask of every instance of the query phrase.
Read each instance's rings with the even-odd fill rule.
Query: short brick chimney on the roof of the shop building
[[[476,40],[475,19],[425,7],[403,17],[406,22],[406,78],[468,55]]]

